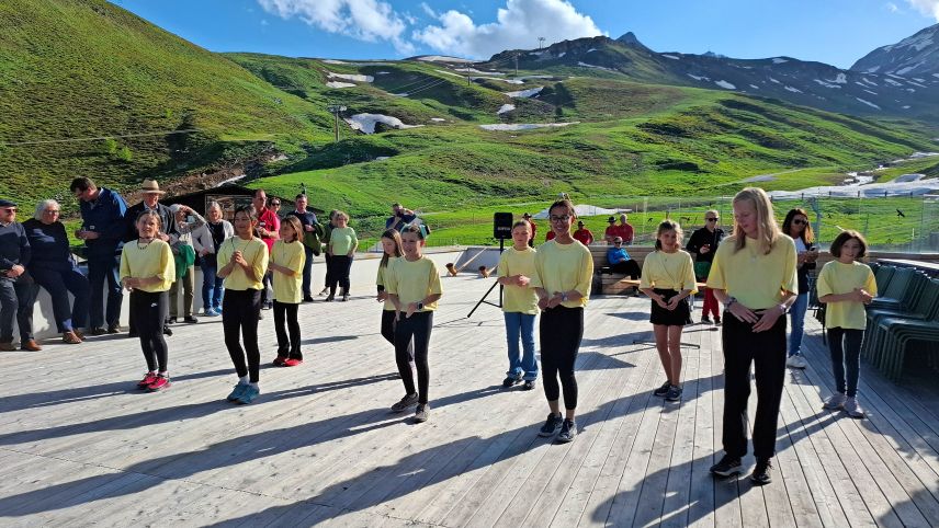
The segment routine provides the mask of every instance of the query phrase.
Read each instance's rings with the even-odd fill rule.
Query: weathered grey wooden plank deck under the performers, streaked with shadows
[[[136,341],[49,344],[0,355],[3,526],[939,526],[939,388],[896,386],[862,366],[870,416],[823,411],[831,369],[808,318],[804,371],[788,372],[776,481],[714,481],[721,449],[720,331],[690,326],[685,397],[663,381],[647,301],[595,298],[578,359],[581,428],[536,431],[541,386],[502,390],[501,313],[488,287],[449,278],[431,345],[431,420],[387,411],[403,389],[380,307],[301,308],[306,363],[265,367],[248,406],[219,320],[177,326],[173,387],[134,389]],[[273,358],[270,315],[263,360]],[[753,409],[753,401],[751,409]],[[753,464],[753,458],[746,461]]]

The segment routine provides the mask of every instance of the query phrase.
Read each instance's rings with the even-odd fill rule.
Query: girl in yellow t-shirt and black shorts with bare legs
[[[649,322],[666,376],[653,394],[675,402],[681,399],[681,331],[691,322],[687,299],[698,288],[691,255],[681,251],[681,226],[664,220],[655,238],[655,251],[643,261],[640,289],[652,299]]]

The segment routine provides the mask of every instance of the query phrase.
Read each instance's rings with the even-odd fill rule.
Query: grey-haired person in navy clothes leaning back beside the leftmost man
[[[63,342],[77,345],[84,338],[81,329],[88,324],[91,289],[71,255],[68,234],[59,221],[59,210],[58,202],[46,199],[36,206],[35,217],[23,222],[32,249],[29,272],[36,284],[49,292],[56,329]],[[75,296],[71,306],[69,292]]]

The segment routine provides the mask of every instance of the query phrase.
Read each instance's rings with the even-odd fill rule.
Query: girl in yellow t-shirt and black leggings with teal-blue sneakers
[[[261,290],[264,288],[262,280],[268,273],[268,245],[256,234],[258,214],[253,207],[236,209],[233,223],[235,237],[226,240],[218,250],[218,276],[225,279],[222,328],[225,346],[238,374],[238,384],[228,394],[228,401],[251,403],[261,393],[258,387],[261,369],[258,319],[261,315]]]

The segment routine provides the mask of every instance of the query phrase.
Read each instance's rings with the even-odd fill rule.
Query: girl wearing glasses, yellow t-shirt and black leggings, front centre
[[[548,209],[554,240],[538,249],[534,274],[529,285],[535,289],[542,310],[541,368],[544,372],[544,395],[551,413],[539,436],[553,436],[570,441],[577,436],[574,415],[577,410],[577,379],[574,364],[584,336],[584,307],[590,297],[593,259],[590,250],[570,236],[570,225],[577,219],[574,204],[561,199]],[[561,415],[561,387],[564,389],[565,415]]]

